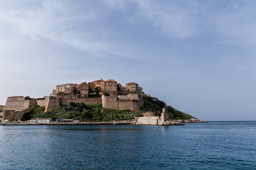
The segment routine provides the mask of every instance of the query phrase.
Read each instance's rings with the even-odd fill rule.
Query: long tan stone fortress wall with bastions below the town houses
[[[117,96],[102,96],[101,98],[59,98],[45,96],[45,99],[25,100],[23,96],[8,97],[2,113],[2,120],[16,121],[20,120],[23,114],[28,113],[33,105],[45,107],[45,111],[51,111],[61,105],[69,105],[70,102],[83,102],[85,105],[97,105],[102,103],[103,108],[117,110],[139,110],[144,105],[142,96],[138,94],[129,94],[129,100],[118,100]],[[19,111],[19,113],[15,113]]]

